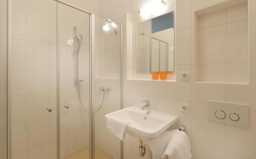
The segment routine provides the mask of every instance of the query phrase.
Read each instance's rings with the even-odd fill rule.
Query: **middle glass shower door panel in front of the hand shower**
[[[89,158],[90,15],[59,4],[60,158]]]

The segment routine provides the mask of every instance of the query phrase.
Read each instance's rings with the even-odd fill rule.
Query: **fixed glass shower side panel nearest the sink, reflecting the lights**
[[[92,103],[95,158],[120,159],[120,140],[106,129],[104,115],[121,109],[121,26],[99,16],[95,16],[94,21]]]

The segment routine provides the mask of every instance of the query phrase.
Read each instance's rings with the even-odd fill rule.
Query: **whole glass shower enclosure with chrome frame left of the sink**
[[[104,118],[122,108],[121,25],[56,0],[8,10],[8,158],[121,158]]]

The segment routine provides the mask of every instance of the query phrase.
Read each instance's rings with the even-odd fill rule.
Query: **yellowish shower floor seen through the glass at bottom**
[[[89,158],[89,147],[78,151],[65,159],[88,159]],[[106,152],[95,146],[95,159],[113,159]]]

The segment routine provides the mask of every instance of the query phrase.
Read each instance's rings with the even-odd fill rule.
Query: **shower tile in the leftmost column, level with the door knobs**
[[[12,96],[12,124],[27,121],[27,99],[26,96]]]

